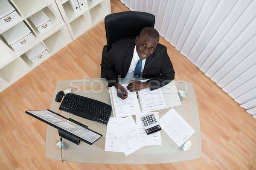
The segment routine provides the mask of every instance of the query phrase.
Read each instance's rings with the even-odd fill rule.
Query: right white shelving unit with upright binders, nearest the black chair
[[[111,14],[110,0],[84,0],[86,9],[75,13],[68,0],[55,0],[70,34],[75,40]]]

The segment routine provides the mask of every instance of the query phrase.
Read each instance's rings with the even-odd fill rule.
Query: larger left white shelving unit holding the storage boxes
[[[9,0],[9,2],[17,9],[20,19],[7,28],[0,29],[0,91],[12,85],[12,83],[72,42],[70,32],[54,0]],[[30,16],[40,10],[44,11],[53,25],[52,28],[43,33],[40,33],[29,20]],[[1,34],[20,22],[26,23],[32,34],[34,34],[35,40],[26,44],[24,48],[15,51],[7,44]],[[49,55],[45,56],[37,64],[33,64],[25,53],[35,45],[38,45],[38,43],[42,43],[47,48]]]

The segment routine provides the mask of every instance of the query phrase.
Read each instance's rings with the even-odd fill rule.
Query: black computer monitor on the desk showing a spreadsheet
[[[67,119],[51,110],[26,111],[25,113],[57,128],[61,137],[76,144],[83,141],[91,145],[102,137],[102,134],[88,129],[87,126],[73,119]]]

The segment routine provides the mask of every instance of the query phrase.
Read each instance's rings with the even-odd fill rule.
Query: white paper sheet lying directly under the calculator
[[[150,112],[150,113],[154,113],[154,116],[156,118],[156,120],[159,120],[159,114],[158,112]],[[142,116],[145,116],[147,114],[150,114],[149,112],[144,112],[144,113],[138,113],[136,114],[136,124],[139,130],[139,140],[140,142],[143,143],[144,146],[150,146],[150,145],[161,145],[162,141],[161,141],[161,133],[160,131],[156,132],[156,133],[152,133],[150,135],[147,135],[143,124],[140,120],[140,118]]]

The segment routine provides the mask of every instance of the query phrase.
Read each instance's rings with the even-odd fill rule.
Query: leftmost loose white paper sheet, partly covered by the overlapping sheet
[[[116,137],[118,124],[124,122],[124,118],[110,117],[107,125],[105,151],[123,152],[123,147]]]

